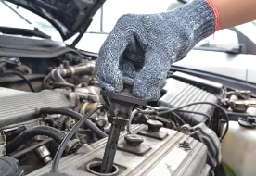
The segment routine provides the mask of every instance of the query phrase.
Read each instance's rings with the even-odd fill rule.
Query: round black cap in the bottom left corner
[[[0,157],[1,176],[24,176],[24,171],[19,169],[19,161],[14,157]]]

